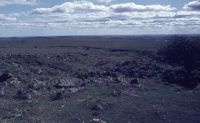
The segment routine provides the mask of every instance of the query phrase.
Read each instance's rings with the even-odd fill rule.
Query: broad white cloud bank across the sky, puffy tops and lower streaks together
[[[182,28],[198,30],[198,26],[200,27],[198,11],[177,10],[170,5],[139,5],[133,2],[114,5],[95,4],[89,1],[65,2],[51,8],[36,8],[21,16],[31,19],[4,22],[3,25],[52,29],[143,29],[166,32]]]

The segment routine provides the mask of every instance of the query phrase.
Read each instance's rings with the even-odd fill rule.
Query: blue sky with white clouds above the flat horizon
[[[0,0],[0,37],[200,34],[200,0]]]

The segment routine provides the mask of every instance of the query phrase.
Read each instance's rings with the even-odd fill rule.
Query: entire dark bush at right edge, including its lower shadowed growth
[[[198,85],[200,78],[200,38],[174,37],[158,51],[162,61],[182,70],[166,71],[164,80],[187,88]]]

